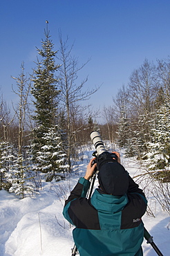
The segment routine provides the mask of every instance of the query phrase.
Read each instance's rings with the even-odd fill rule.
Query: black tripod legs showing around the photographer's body
[[[92,194],[92,191],[93,191],[93,186],[94,186],[94,183],[95,183],[95,178],[96,178],[96,174],[97,174],[97,169],[95,170],[95,172],[93,173],[93,176],[91,177],[91,184],[90,184],[90,187],[88,189],[88,192],[87,192],[87,195],[86,195],[86,198],[87,199],[90,199],[91,198],[91,194]],[[144,228],[144,238],[147,240],[147,244],[151,244],[151,246],[153,247],[153,249],[155,250],[155,252],[159,255],[159,256],[164,256],[162,255],[162,253],[160,252],[160,250],[158,249],[158,247],[155,245],[155,243],[153,242],[153,237],[151,237],[151,235],[149,234],[149,232],[146,230],[146,228]],[[74,244],[74,247],[72,249],[72,254],[71,256],[75,256],[75,255],[78,255],[78,250],[77,250],[77,247],[75,246]]]

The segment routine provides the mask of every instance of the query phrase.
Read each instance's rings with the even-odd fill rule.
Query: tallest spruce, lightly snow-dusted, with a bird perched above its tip
[[[35,161],[35,170],[48,174],[50,172],[53,177],[53,174],[59,171],[56,161],[59,161],[59,158],[63,158],[61,148],[57,147],[61,136],[59,129],[57,129],[58,136],[56,135],[55,129],[57,122],[57,95],[59,95],[59,90],[57,89],[58,80],[55,78],[55,72],[58,70],[59,65],[55,64],[57,51],[53,51],[54,44],[50,39],[48,25],[45,30],[45,37],[46,39],[41,42],[41,49],[37,48],[42,60],[41,62],[38,60],[37,69],[32,79],[34,87],[31,93],[35,97],[33,101],[35,116],[33,118],[36,121],[36,127],[33,130],[32,160]],[[46,136],[48,136],[48,140]],[[51,136],[51,139],[49,136]],[[56,136],[58,138],[57,144],[53,145],[53,139]],[[54,150],[55,155],[58,154],[57,159],[53,158]],[[48,178],[48,180],[50,179]]]

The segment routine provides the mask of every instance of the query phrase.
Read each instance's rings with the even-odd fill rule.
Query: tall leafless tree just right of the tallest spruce
[[[76,112],[82,112],[86,107],[80,106],[79,102],[84,100],[88,100],[93,93],[97,91],[98,88],[95,89],[86,89],[84,90],[84,86],[88,81],[88,77],[86,77],[82,82],[77,82],[78,72],[84,68],[85,64],[79,66],[79,61],[77,57],[72,57],[71,51],[73,50],[73,45],[68,47],[68,37],[64,42],[62,39],[62,33],[59,32],[59,43],[60,43],[60,57],[58,57],[62,67],[60,68],[59,74],[59,89],[61,93],[59,94],[59,100],[62,102],[64,106],[64,111],[66,113],[66,133],[67,133],[67,143],[68,143],[68,165],[69,170],[71,169],[71,161],[70,157],[73,152],[73,116],[71,113],[74,113],[73,109],[76,108]],[[79,108],[77,109],[77,106]]]

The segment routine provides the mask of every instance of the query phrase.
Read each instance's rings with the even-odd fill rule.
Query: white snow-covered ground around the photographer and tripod
[[[39,195],[18,199],[15,194],[0,191],[0,255],[1,256],[68,256],[73,248],[72,229],[62,216],[64,199],[83,176],[92,152],[87,152],[78,170],[65,181],[42,183]],[[131,176],[139,174],[138,164],[122,156],[122,165]],[[95,181],[95,186],[97,180]],[[170,217],[155,199],[155,217],[143,217],[145,228],[164,256],[170,255]],[[157,255],[146,240],[144,255]],[[93,255],[92,255],[93,256]]]

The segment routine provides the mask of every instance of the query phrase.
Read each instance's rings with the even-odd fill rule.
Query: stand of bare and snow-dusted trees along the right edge
[[[169,170],[170,60],[144,60],[114,102],[120,113],[117,143],[138,156],[149,170]]]

